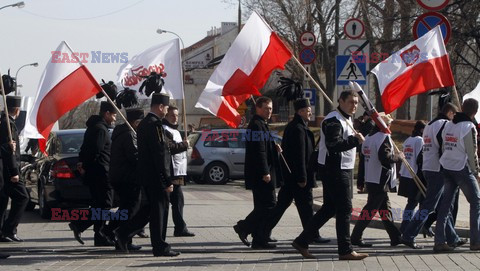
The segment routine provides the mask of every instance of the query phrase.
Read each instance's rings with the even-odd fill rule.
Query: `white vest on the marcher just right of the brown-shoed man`
[[[365,138],[365,142],[362,144],[362,154],[365,156],[365,182],[368,183],[380,183],[380,177],[382,174],[382,164],[378,158],[378,150],[382,145],[385,138],[388,138],[390,145],[393,148],[393,142],[390,135],[377,132],[374,135],[369,135]],[[392,164],[390,169],[390,187],[397,186],[397,170],[395,163]]]

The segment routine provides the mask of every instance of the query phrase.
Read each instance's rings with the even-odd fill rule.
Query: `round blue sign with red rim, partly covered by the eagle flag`
[[[450,39],[452,28],[447,18],[438,12],[427,12],[420,15],[413,24],[413,37],[418,39],[419,37],[425,35],[428,31],[435,28],[437,25],[440,25],[443,40],[445,44],[447,44],[448,40]]]

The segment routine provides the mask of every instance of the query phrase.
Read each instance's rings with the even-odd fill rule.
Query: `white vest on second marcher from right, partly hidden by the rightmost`
[[[440,143],[437,140],[437,134],[446,122],[448,120],[439,119],[423,129],[422,170],[440,172]]]

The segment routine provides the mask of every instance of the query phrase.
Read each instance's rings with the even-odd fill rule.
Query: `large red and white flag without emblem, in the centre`
[[[284,69],[292,57],[265,21],[253,12],[213,72],[195,107],[203,108],[238,127],[237,108],[251,95],[261,96],[274,69]]]

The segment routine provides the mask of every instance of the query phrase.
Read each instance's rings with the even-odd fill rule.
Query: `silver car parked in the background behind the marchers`
[[[273,135],[276,142],[281,137]],[[244,178],[245,129],[203,130],[188,136],[187,174],[196,182],[225,184]]]

